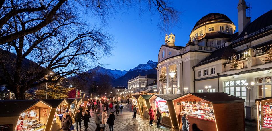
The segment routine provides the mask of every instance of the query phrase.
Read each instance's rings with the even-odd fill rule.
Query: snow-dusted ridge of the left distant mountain
[[[103,67],[97,66],[93,69],[90,69],[87,71],[88,73],[96,73],[97,75],[109,75],[112,79],[117,79],[119,77],[122,77],[127,73],[126,70],[120,71],[120,70],[112,70],[112,69],[105,69]]]

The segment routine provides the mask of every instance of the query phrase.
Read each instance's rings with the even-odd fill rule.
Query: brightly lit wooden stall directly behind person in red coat
[[[161,124],[174,128],[178,127],[177,116],[175,114],[173,99],[181,97],[180,94],[155,94],[149,99],[150,105],[157,112],[157,107],[162,112]],[[149,109],[147,109],[148,111]],[[155,120],[156,120],[155,116]]]

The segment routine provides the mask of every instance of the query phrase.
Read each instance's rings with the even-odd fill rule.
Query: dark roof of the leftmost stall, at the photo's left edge
[[[0,101],[1,113],[0,117],[18,116],[25,109],[35,105],[38,100],[15,100],[15,101]]]

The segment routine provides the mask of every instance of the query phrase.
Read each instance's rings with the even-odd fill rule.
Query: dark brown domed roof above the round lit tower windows
[[[214,21],[214,20],[224,20],[224,21],[229,21],[231,23],[233,23],[226,15],[224,14],[220,14],[220,13],[210,13],[208,15],[205,15],[204,17],[202,17],[200,20],[198,20],[194,26],[194,28],[196,28],[196,26],[209,22],[209,21]],[[193,28],[193,30],[194,30]]]

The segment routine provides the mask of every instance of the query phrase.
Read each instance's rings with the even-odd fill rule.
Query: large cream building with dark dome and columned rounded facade
[[[272,63],[265,62],[272,44],[272,10],[250,22],[247,4],[238,3],[238,32],[224,14],[210,13],[198,20],[185,47],[173,42],[162,45],[158,55],[157,79],[161,94],[188,92],[226,92],[254,100],[272,96]],[[239,62],[237,69],[230,68],[233,54]],[[170,72],[175,72],[172,79]],[[166,73],[166,81],[159,81]],[[246,90],[245,83],[254,82],[254,89]],[[173,89],[172,89],[173,88]],[[188,90],[184,90],[188,89]],[[253,106],[252,117],[255,107]]]

